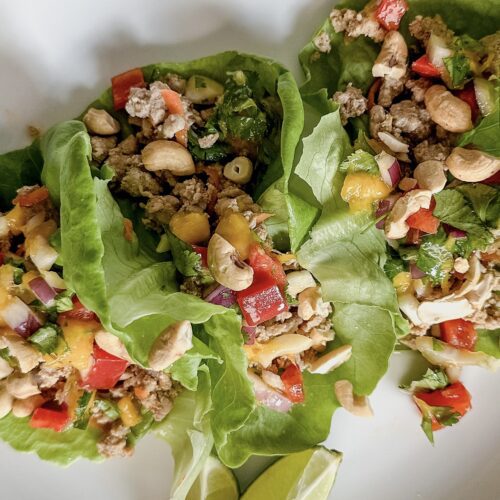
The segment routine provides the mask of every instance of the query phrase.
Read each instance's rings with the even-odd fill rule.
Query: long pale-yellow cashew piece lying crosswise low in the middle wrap
[[[250,363],[259,363],[264,368],[267,368],[273,362],[273,359],[300,354],[310,349],[312,343],[312,340],[304,335],[285,333],[279,337],[274,337],[265,344],[255,342],[252,345],[244,345],[243,349]]]

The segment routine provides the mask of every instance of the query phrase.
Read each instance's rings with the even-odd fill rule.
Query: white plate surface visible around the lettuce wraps
[[[78,115],[111,76],[134,66],[239,49],[279,59],[300,80],[297,53],[331,4],[0,0],[0,152],[26,145],[28,124],[44,130]],[[327,444],[344,452],[344,462],[334,498],[500,498],[500,376],[479,369],[466,373],[474,410],[439,432],[433,448],[408,396],[397,389],[407,366],[407,355],[392,360],[371,398],[375,418],[336,413]],[[261,467],[246,466],[243,481]],[[168,447],[151,437],[131,459],[78,462],[69,469],[0,444],[2,500],[160,500],[168,498],[171,477]]]

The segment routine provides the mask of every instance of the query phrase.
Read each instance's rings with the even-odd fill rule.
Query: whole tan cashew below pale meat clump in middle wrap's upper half
[[[194,174],[194,162],[190,152],[178,142],[159,140],[150,142],[142,150],[142,163],[146,170],[168,170],[174,175]]]

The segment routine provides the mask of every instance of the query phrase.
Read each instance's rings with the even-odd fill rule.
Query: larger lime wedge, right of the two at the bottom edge
[[[316,446],[274,462],[241,500],[327,500],[342,454]]]

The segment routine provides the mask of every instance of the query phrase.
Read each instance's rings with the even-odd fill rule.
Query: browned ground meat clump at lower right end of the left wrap
[[[145,370],[137,365],[127,368],[123,382],[124,389],[140,388],[145,397],[139,399],[156,421],[163,420],[172,409],[172,401],[179,394],[181,386],[164,372]]]

